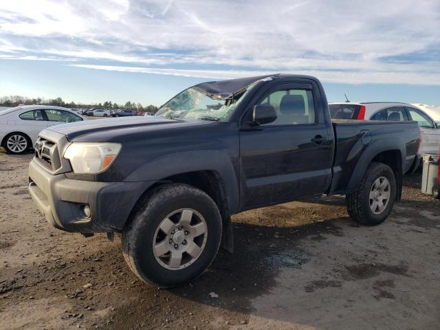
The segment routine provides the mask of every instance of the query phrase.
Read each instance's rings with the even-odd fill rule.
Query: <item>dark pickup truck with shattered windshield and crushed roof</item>
[[[331,122],[316,78],[222,80],[182,91],[155,118],[45,129],[29,191],[56,228],[122,233],[133,272],[172,287],[220,246],[232,251],[230,216],[243,210],[346,195],[353,220],[381,223],[418,146],[417,122]]]

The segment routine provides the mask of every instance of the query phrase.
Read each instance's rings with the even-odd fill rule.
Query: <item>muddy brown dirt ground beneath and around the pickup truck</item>
[[[31,157],[0,152],[0,329],[440,329],[440,201],[420,174],[376,227],[342,197],[238,214],[236,252],[164,290],[130,272],[119,237],[51,228]]]

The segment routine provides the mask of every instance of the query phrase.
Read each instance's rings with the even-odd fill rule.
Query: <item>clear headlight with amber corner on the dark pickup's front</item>
[[[107,170],[121,150],[118,143],[85,143],[70,144],[65,153],[74,173],[96,174]]]

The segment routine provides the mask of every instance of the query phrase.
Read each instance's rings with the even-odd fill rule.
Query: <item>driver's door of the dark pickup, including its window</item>
[[[241,129],[242,209],[319,195],[328,188],[333,144],[307,85],[268,89],[256,104],[272,105],[276,120]]]

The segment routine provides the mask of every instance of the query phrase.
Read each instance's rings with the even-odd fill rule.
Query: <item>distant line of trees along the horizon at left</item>
[[[26,98],[25,96],[11,95],[0,97],[0,107],[17,107],[21,104],[33,105],[54,105],[56,107],[65,108],[92,108],[102,107],[105,109],[126,109],[134,111],[144,111],[148,113],[155,113],[159,108],[153,104],[143,106],[141,103],[127,101],[125,104],[118,104],[116,102],[105,101],[93,104],[80,104],[76,102],[65,102],[62,98],[45,99],[45,98]]]

